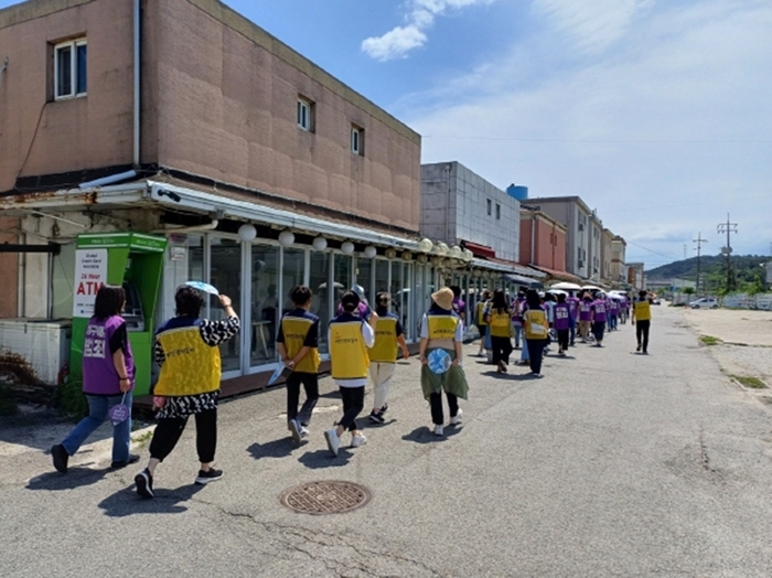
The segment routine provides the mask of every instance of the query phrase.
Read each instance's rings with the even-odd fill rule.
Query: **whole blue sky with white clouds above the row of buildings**
[[[0,0],[0,7],[13,2]],[[769,0],[226,0],[501,189],[580,195],[647,268],[772,253]],[[685,250],[686,249],[686,250]]]

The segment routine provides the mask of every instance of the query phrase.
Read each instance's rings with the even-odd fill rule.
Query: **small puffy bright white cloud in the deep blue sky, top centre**
[[[362,51],[377,61],[404,58],[415,49],[426,44],[425,31],[435,24],[435,18],[449,10],[460,10],[474,4],[490,4],[495,0],[412,0],[409,2],[407,22],[395,26],[380,36],[372,36],[362,42]]]

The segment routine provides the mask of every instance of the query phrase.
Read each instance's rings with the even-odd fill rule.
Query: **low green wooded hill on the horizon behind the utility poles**
[[[759,265],[772,260],[765,255],[732,256],[732,271],[736,287],[741,291],[758,291],[763,289],[765,271]],[[722,255],[703,255],[700,258],[700,275],[706,287],[714,290],[726,290],[727,258]],[[646,271],[646,278],[652,281],[669,280],[673,278],[694,280],[697,278],[697,257],[662,265]]]

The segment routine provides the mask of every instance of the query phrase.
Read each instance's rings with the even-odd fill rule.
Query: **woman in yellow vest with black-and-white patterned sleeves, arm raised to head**
[[[225,321],[200,319],[203,295],[183,285],[174,295],[176,317],[156,331],[153,355],[161,366],[153,399],[158,426],[150,440],[148,467],[135,477],[137,493],[153,497],[156,467],[171,453],[195,416],[196,450],[201,468],[195,483],[203,485],[223,477],[212,468],[217,446],[217,398],[222,376],[219,345],[238,333],[239,321],[230,298],[219,296]]]

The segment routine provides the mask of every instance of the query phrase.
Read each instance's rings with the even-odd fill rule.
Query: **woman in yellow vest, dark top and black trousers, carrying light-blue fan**
[[[309,312],[312,295],[304,285],[290,291],[294,309],[281,318],[276,338],[281,361],[292,371],[287,377],[287,427],[296,443],[309,435],[311,413],[319,400],[319,318]],[[298,411],[301,384],[305,403]]]

